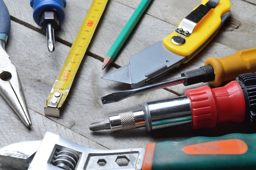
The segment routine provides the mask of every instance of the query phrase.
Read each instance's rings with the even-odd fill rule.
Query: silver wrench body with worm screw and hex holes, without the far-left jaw
[[[141,170],[145,148],[97,150],[47,132],[29,170]]]

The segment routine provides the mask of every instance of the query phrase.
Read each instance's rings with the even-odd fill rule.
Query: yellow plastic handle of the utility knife
[[[206,6],[205,4],[207,4],[207,2],[208,0],[202,0],[201,5]],[[196,10],[199,7],[200,6],[196,7],[194,10]],[[193,58],[193,56],[195,56],[200,51],[200,49],[202,49],[202,47],[207,45],[206,43],[207,40],[209,42],[209,39],[213,38],[213,34],[216,34],[215,33],[216,30],[218,30],[218,28],[220,27],[222,15],[229,12],[230,7],[231,7],[231,4],[229,0],[220,0],[217,6],[215,8],[210,9],[209,12],[206,13],[202,17],[202,19],[195,25],[193,32],[189,36],[183,36],[181,34],[178,34],[176,31],[174,31],[171,35],[164,38],[163,45],[167,49],[169,49],[170,51],[176,54],[179,54],[181,56],[189,56],[188,59],[190,60],[191,58]],[[190,22],[187,22],[187,23],[190,23]],[[177,29],[180,28],[181,24],[182,22],[180,22]],[[178,37],[178,38],[181,38],[182,40],[184,38],[184,43],[183,44],[180,43],[178,45],[174,44],[172,41],[173,37]],[[195,51],[197,52],[195,53]],[[188,59],[183,63],[188,62],[189,61]]]

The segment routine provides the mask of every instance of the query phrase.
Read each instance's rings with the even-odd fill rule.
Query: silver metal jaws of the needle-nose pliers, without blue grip
[[[4,49],[5,42],[0,40],[0,94],[20,117],[23,123],[32,125],[16,67],[11,63]]]

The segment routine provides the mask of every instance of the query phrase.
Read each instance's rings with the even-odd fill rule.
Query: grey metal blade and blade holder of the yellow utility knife
[[[102,78],[131,84],[132,88],[149,83],[154,78],[179,67],[186,60],[166,49],[159,41],[130,57],[130,65],[126,65]]]

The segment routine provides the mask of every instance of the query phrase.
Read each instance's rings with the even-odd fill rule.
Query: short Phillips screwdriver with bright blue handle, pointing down
[[[30,0],[30,6],[34,9],[34,21],[46,32],[48,50],[53,52],[55,48],[54,30],[62,24],[65,18],[66,0]]]

